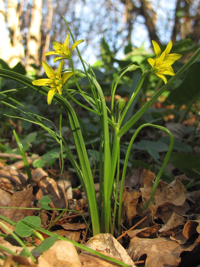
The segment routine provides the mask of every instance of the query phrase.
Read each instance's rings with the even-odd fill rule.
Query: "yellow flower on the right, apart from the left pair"
[[[167,79],[164,76],[165,74],[168,75],[175,75],[174,70],[172,69],[172,64],[178,60],[181,55],[180,54],[169,54],[169,52],[172,49],[172,41],[169,41],[166,49],[164,50],[163,53],[161,53],[161,49],[159,45],[155,42],[152,41],[153,44],[153,49],[156,54],[156,58],[148,58],[148,63],[151,65],[151,71],[160,77],[164,83],[167,83]]]

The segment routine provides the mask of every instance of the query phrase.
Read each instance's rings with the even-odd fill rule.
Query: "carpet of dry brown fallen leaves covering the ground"
[[[12,167],[13,168],[13,167]],[[39,200],[49,196],[49,209],[71,209],[58,218],[59,210],[43,210],[41,227],[60,236],[72,239],[104,255],[123,261],[129,266],[197,266],[200,262],[200,190],[185,189],[181,176],[167,184],[160,180],[151,205],[144,211],[142,206],[149,199],[155,174],[139,168],[132,177],[125,179],[122,218],[122,237],[111,234],[99,234],[88,240],[89,213],[84,192],[72,190],[70,177],[51,178],[41,168],[32,170],[32,181],[28,184],[26,174],[19,170],[0,169],[0,205],[1,207],[41,208]],[[134,178],[133,178],[134,177]],[[131,182],[130,182],[131,181]],[[133,186],[131,186],[133,185]],[[98,190],[98,185],[96,185]],[[133,190],[133,188],[135,190]],[[96,191],[97,191],[96,190]],[[97,192],[98,193],[98,192]],[[76,213],[78,211],[83,217]],[[0,214],[14,222],[26,216],[37,216],[38,210],[0,209]],[[58,220],[57,220],[58,218]],[[15,226],[1,220],[11,231]],[[1,233],[9,234],[5,229]],[[130,231],[127,231],[131,229]],[[46,239],[48,236],[41,233]],[[27,248],[33,250],[29,238]],[[70,242],[57,240],[46,251],[34,255],[37,264],[30,258],[20,255],[23,250],[13,240],[0,237],[3,247],[16,252],[11,255],[0,249],[6,260],[0,260],[1,266],[118,266],[86,251],[80,251]],[[29,245],[28,245],[29,244]],[[42,244],[35,239],[35,244]],[[14,265],[15,266],[15,265]]]

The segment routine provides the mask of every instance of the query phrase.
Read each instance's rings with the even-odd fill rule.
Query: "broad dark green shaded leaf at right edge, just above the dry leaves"
[[[197,155],[173,152],[169,163],[191,179],[200,178],[200,157]]]

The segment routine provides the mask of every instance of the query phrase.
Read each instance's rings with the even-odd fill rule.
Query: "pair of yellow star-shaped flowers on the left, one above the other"
[[[58,61],[59,59],[71,59],[71,53],[74,50],[74,48],[84,40],[76,41],[71,49],[69,50],[69,34],[67,34],[67,38],[65,39],[64,44],[60,44],[58,42],[53,42],[55,51],[47,52],[45,55],[60,55],[60,57],[57,57],[54,59],[54,63]],[[59,67],[55,73],[55,71],[45,62],[42,61],[42,66],[44,68],[44,71],[47,74],[47,77],[49,79],[39,79],[32,82],[34,85],[46,85],[50,86],[51,89],[48,92],[47,95],[47,102],[50,105],[51,101],[55,95],[55,93],[58,91],[60,95],[62,95],[62,85],[65,84],[65,82],[71,77],[74,73],[72,71],[65,72],[63,76],[61,77],[61,71],[63,67],[63,61],[60,61]]]

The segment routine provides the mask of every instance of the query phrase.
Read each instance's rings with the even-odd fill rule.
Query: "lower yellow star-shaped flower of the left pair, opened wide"
[[[49,77],[49,79],[39,79],[32,82],[34,85],[46,85],[50,86],[51,89],[48,92],[47,95],[47,102],[50,105],[51,101],[55,95],[55,93],[58,91],[60,95],[62,95],[62,85],[73,75],[72,71],[65,72],[63,74],[63,77],[61,77],[61,71],[63,66],[63,61],[60,61],[59,67],[55,73],[55,71],[45,62],[42,61],[42,66]]]

